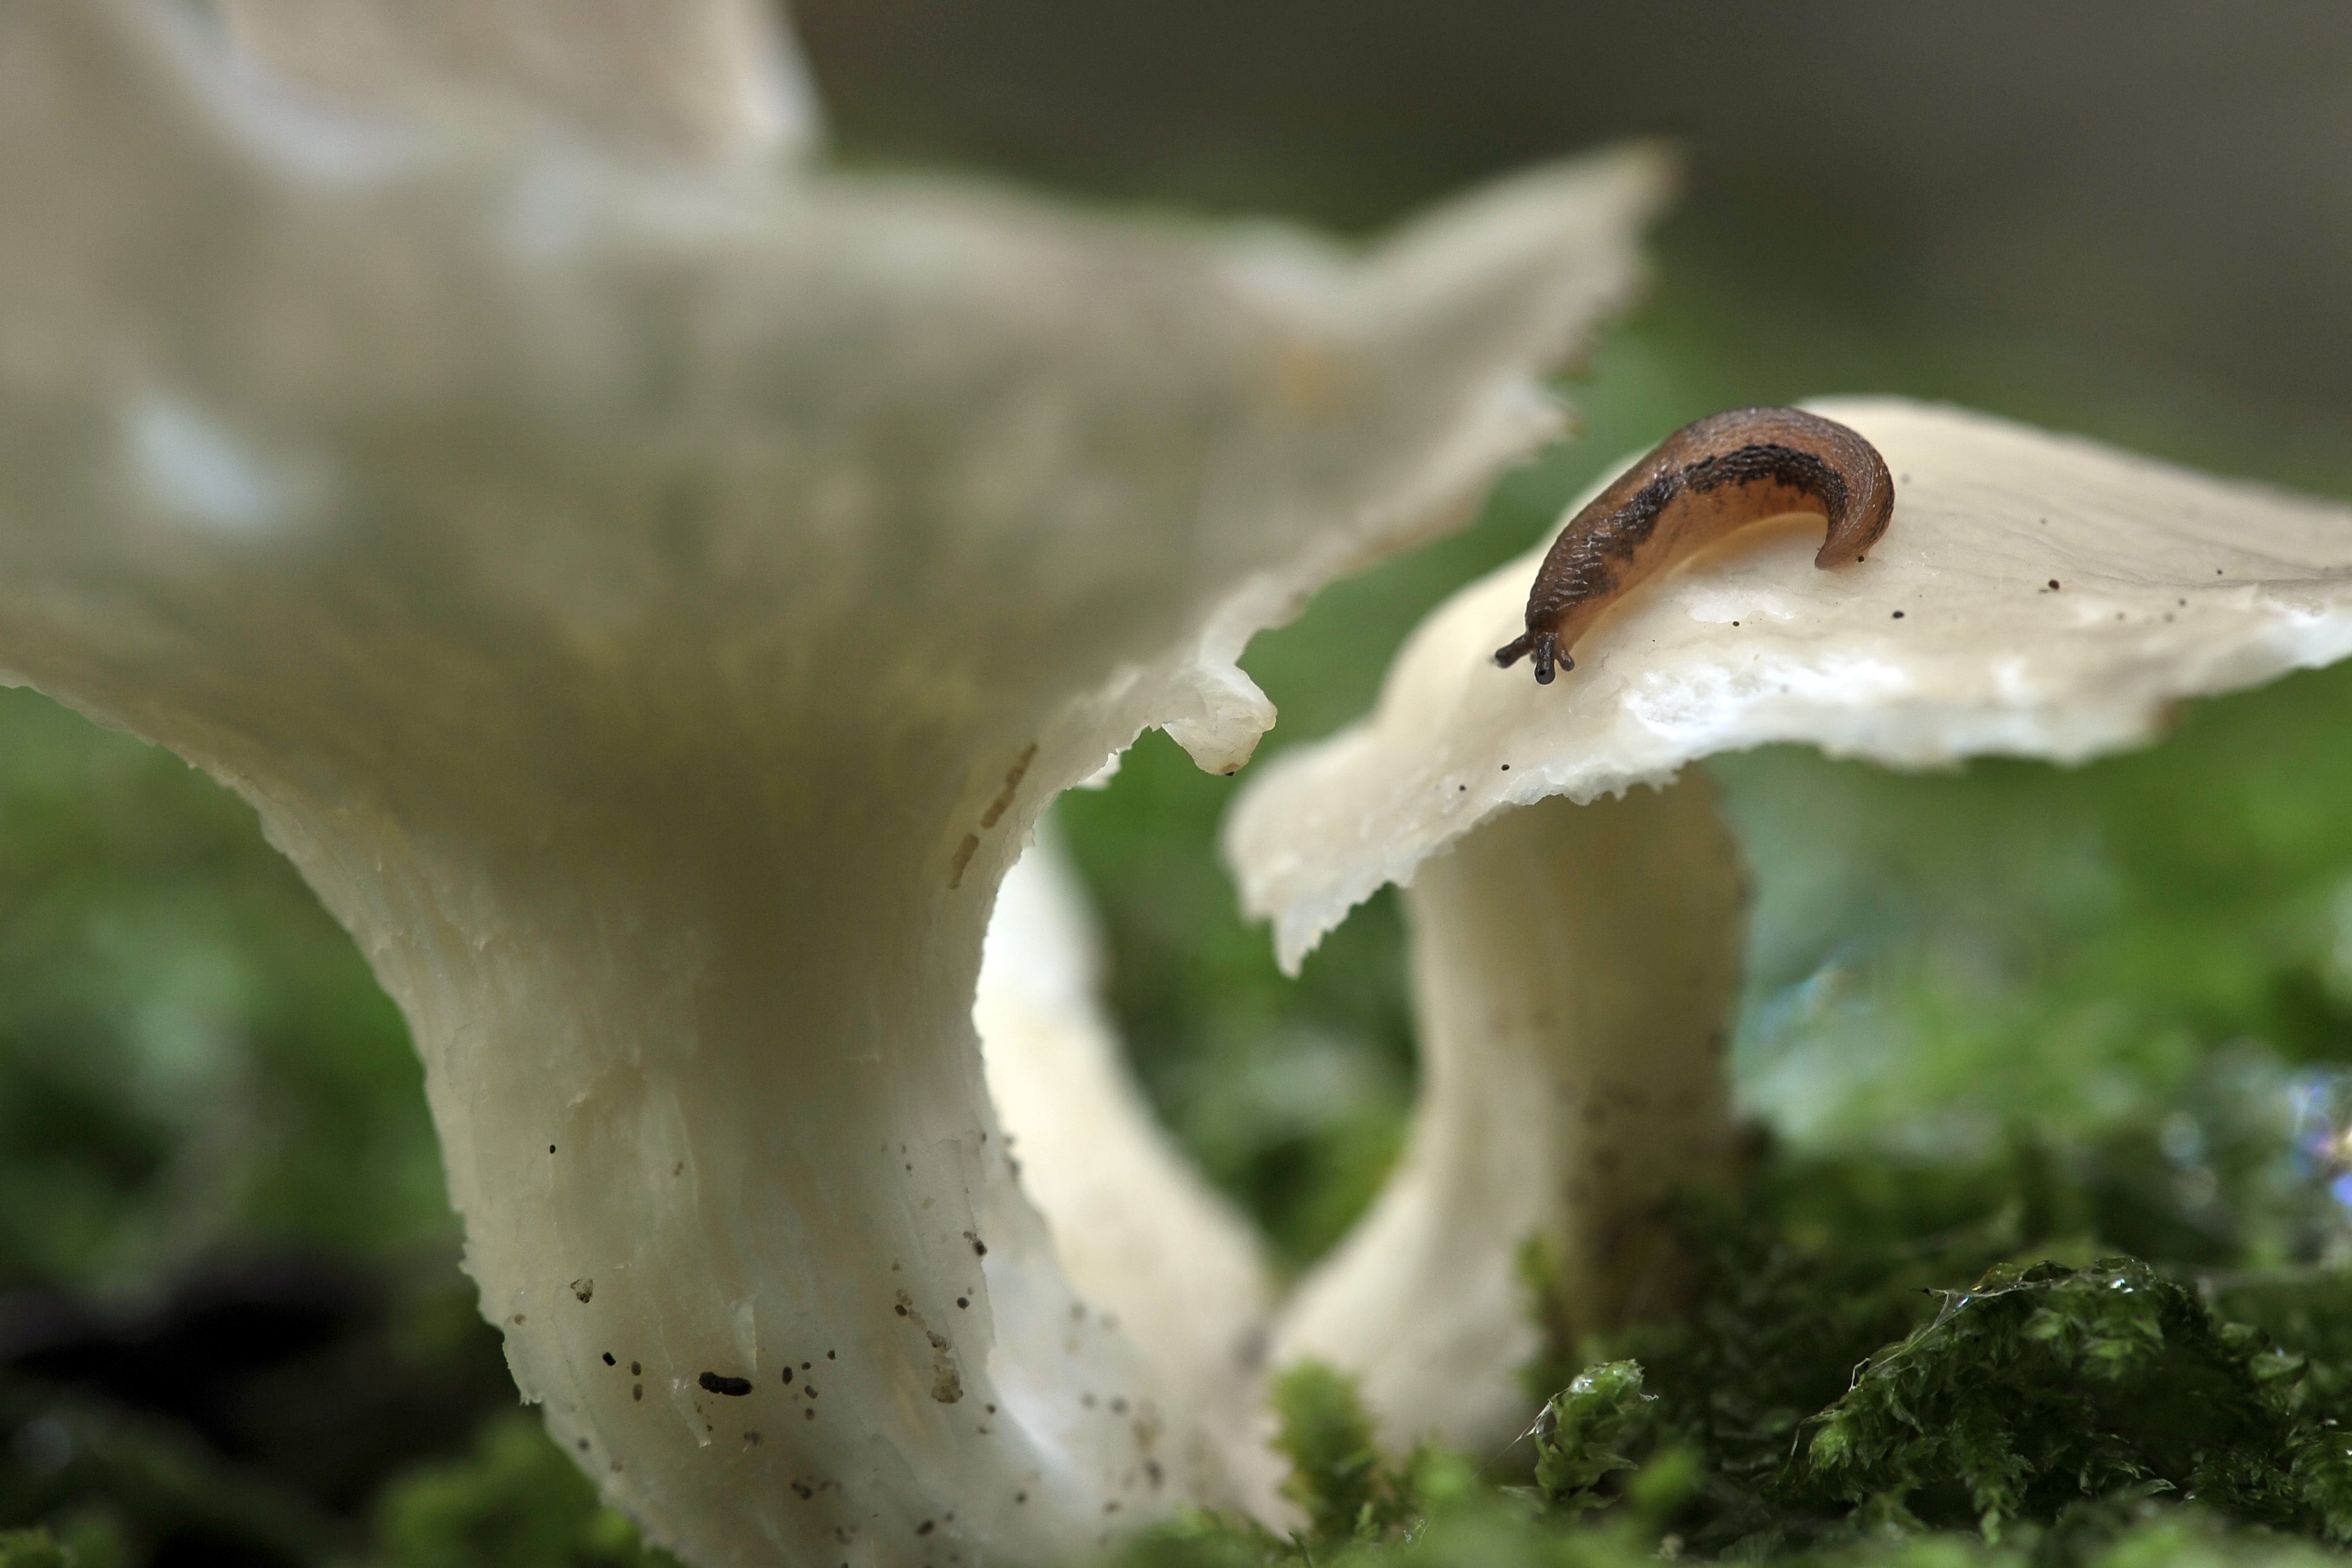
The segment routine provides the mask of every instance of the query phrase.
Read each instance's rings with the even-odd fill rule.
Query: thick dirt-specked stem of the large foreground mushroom
[[[823,806],[656,766],[675,816],[574,802],[536,835],[452,778],[423,820],[252,790],[412,1020],[466,1267],[550,1434],[713,1566],[1049,1561],[1232,1502],[1181,1392],[1063,1281],[988,1110],[960,999],[1002,844],[908,919],[936,835],[823,856],[849,837],[800,837]]]

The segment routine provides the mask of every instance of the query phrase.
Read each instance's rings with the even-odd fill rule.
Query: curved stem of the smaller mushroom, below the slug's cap
[[[1534,1241],[1569,1333],[1675,1305],[1658,1206],[1733,1164],[1724,1027],[1740,867],[1705,773],[1543,799],[1404,893],[1423,1088],[1371,1215],[1298,1291],[1277,1361],[1352,1373],[1383,1436],[1477,1450],[1531,1406]]]

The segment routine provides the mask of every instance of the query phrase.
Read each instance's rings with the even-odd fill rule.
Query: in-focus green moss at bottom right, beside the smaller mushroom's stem
[[[1298,1368],[1277,1408],[1305,1526],[1188,1519],[1129,1561],[2333,1556],[2352,1279],[2100,1255],[2105,1154],[1771,1157],[1738,1206],[1684,1208],[1696,1307],[1555,1347],[1583,1366],[1512,1450],[1381,1455],[1345,1380]]]

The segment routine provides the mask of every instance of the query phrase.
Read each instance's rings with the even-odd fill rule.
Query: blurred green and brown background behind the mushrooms
[[[1350,38],[1385,38],[1399,14],[1376,7]],[[1882,158],[1879,186],[1839,183],[1830,150],[1804,162],[1820,125],[1799,115],[1792,132],[1764,113],[1785,92],[1764,61],[1740,101],[1736,52],[1684,59],[1677,75],[1625,7],[1588,16],[1597,42],[1555,45],[1550,78],[1494,16],[1486,54],[1456,59],[1463,42],[1446,33],[1458,92],[1430,99],[1423,85],[1385,99],[1388,118],[1371,87],[1305,92],[1322,80],[1312,28],[1284,45],[1298,49],[1289,75],[1261,61],[1237,68],[1240,85],[1131,99],[1120,120],[1117,94],[1070,87],[1089,56],[1051,26],[1068,7],[1000,19],[1011,38],[1042,28],[1061,54],[1002,45],[978,66],[967,59],[971,80],[953,78],[955,92],[938,87],[953,75],[941,61],[955,59],[941,40],[969,21],[844,5],[804,16],[851,165],[953,162],[1350,228],[1505,158],[1661,129],[1616,103],[1679,103],[1682,125],[1663,129],[1691,132],[1693,193],[1658,235],[1646,303],[1564,388],[1581,440],[1510,475],[1468,531],[1331,588],[1261,637],[1247,665],[1282,710],[1268,752],[1359,715],[1402,635],[1446,592],[1552,529],[1606,463],[1722,407],[1846,390],[1943,397],[2352,496],[2352,395],[2328,381],[2345,374],[2343,355],[2314,348],[2326,343],[2317,306],[2298,303],[2312,249],[2336,233],[2321,221],[2333,195],[2314,197],[2319,216],[2281,205],[2277,230],[2237,247],[2251,259],[2230,252],[2239,270],[2206,261],[2213,214],[2183,197],[2194,266],[2147,254],[2129,270],[2143,235],[2131,223],[2034,228],[2037,212],[2063,205],[2063,181],[2020,209],[2009,188],[1971,188],[1978,165],[1936,162],[1945,141],[1966,143],[1966,125],[1933,136],[1898,125],[1924,136],[1912,162]],[[1232,21],[1223,7],[1202,16],[1195,26]],[[2336,47],[2300,12],[2253,31],[2296,56],[2293,26]],[[2079,66],[2074,101],[2105,103],[2100,82],[2138,56],[2100,63],[2105,35],[2070,38],[2077,54],[2060,66]],[[1856,40],[1853,26],[1830,40],[1816,54],[1863,49],[1865,66],[1867,47],[1907,47]],[[2197,56],[2199,40],[2173,45],[2166,61]],[[1190,47],[1183,61],[1225,59]],[[1999,61],[1959,54],[1978,71]],[[1348,66],[1345,49],[1334,59],[1329,82],[1371,71]],[[2216,80],[2199,78],[2194,101],[2251,103],[2265,59],[2239,47]],[[1131,66],[1124,52],[1120,63]],[[1479,108],[1479,71],[1512,85],[1501,110]],[[1693,71],[1715,96],[1691,96]],[[1823,75],[1839,80],[1830,66]],[[2025,75],[2056,82],[2044,96],[2070,87],[2049,61]],[[2305,75],[2272,73],[2267,120],[2211,113],[2216,167],[2194,190],[2244,202],[2249,181],[2293,188],[2293,167],[2281,174],[2249,148],[2288,148],[2286,165],[2319,155],[2293,141],[2300,122],[2286,113],[2310,96]],[[1571,94],[1571,82],[1592,87]],[[1661,82],[1672,92],[1644,96]],[[1545,120],[1529,108],[1548,103],[1545,87],[1578,106]],[[1218,92],[1240,108],[1218,118]],[[1889,92],[1875,87],[1872,103],[1900,118]],[[1947,101],[1919,106],[1922,125]],[[1289,118],[1254,120],[1254,103]],[[1486,110],[1508,110],[1508,125],[1482,132]],[[1987,136],[2013,129],[2016,106],[1999,94],[1976,110]],[[2079,181],[2110,167],[2084,153],[2093,141],[2140,167],[2129,146],[2114,150],[2131,125],[2117,108],[2098,136],[2060,139]],[[1745,127],[1778,165],[1740,162],[1759,158],[1738,150]],[[2013,148],[2004,158],[2020,162]],[[2161,153],[2143,148],[2140,162]],[[1771,169],[1780,188],[1757,183]],[[1889,181],[1910,195],[1870,209]],[[2004,273],[2011,252],[1990,247],[1994,261],[1973,270],[1922,268],[1922,254],[1976,233],[1969,200],[2011,249],[2051,233],[2096,266],[2053,273],[2034,252],[2034,266]],[[2246,214],[2230,214],[2244,233]],[[2110,294],[2131,310],[2107,308]],[[1999,308],[1985,308],[1992,296]],[[2089,299],[2105,313],[2077,308]],[[2216,299],[2230,310],[2206,308]],[[2347,719],[2352,665],[2199,705],[2166,743],[2077,771],[1987,762],[1905,778],[1799,750],[1719,762],[1757,889],[1736,1048],[1745,1107],[1785,1147],[1820,1157],[1964,1164],[2018,1140],[2131,1147],[2145,1157],[2140,1180],[2164,1187],[2147,1206],[2161,1222],[2143,1227],[2152,1253],[2326,1262],[2336,1232],[2249,1229],[2249,1215],[2305,1213],[2249,1194],[2317,1180],[2291,1159],[2291,1124],[2312,1095],[2336,1093],[2312,1070],[2352,1065]],[[1098,898],[1112,1004],[1155,1105],[1296,1269],[1362,1211],[1399,1147],[1414,1088],[1402,931],[1381,896],[1298,983],[1284,980],[1214,856],[1232,792],[1235,780],[1197,773],[1148,736],[1108,790],[1056,811]],[[2216,1072],[2232,1095],[2213,1093]],[[2274,1157],[2209,1159],[2234,1135],[2206,1114],[2223,1098],[2272,1119]],[[0,693],[0,1526],[47,1521],[85,1563],[637,1561],[628,1526],[597,1514],[586,1481],[513,1413],[456,1246],[400,1018],[252,813],[162,752]]]

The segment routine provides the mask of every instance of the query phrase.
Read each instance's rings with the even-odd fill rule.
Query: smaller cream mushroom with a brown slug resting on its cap
[[[1406,889],[1411,1140],[1272,1352],[1352,1371],[1390,1439],[1524,1429],[1524,1260],[1581,1328],[1656,1312],[1658,1201],[1733,1168],[1740,870],[1693,762],[1799,741],[1898,769],[2072,764],[2154,738],[2180,698],[2352,654],[2343,505],[1957,409],[1813,409],[1903,475],[1867,569],[1813,569],[1818,517],[1731,536],[1625,595],[1576,677],[1538,689],[1491,661],[1536,550],[1439,607],[1376,712],[1270,762],[1228,818],[1287,966]]]

